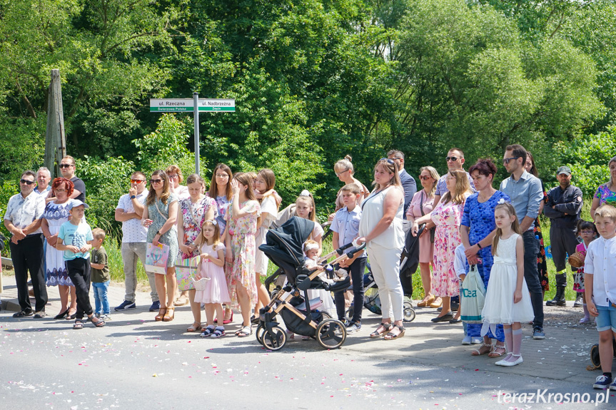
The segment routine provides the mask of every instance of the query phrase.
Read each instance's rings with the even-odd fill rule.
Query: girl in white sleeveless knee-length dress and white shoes
[[[530,303],[530,294],[524,280],[524,242],[520,235],[520,223],[515,208],[504,199],[498,201],[494,210],[496,235],[492,244],[494,265],[485,304],[481,316],[483,328],[481,335],[488,333],[488,327],[496,330],[503,324],[505,330],[505,359],[496,362],[497,366],[515,366],[522,363],[522,325],[535,318]]]

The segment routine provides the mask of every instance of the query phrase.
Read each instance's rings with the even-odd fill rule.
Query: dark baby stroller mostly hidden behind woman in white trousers
[[[402,283],[402,289],[404,292],[404,305],[403,305],[403,321],[413,322],[417,314],[413,309],[413,273],[417,270],[419,265],[419,246],[418,238],[423,232],[425,225],[421,225],[417,236],[413,236],[410,233],[410,229],[407,232],[405,245],[400,256],[400,282]],[[367,264],[368,272],[363,275],[363,307],[370,310],[374,314],[382,314],[380,310],[380,299],[378,297],[378,287],[372,272],[370,272],[370,264]],[[345,319],[348,322],[353,318],[353,304],[349,307],[345,314]]]

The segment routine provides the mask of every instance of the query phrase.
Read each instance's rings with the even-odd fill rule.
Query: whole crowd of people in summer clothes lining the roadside
[[[475,356],[501,358],[496,364],[522,363],[522,323],[532,323],[532,339],[544,339],[543,299],[550,289],[545,249],[538,216],[550,218],[550,244],[557,270],[555,296],[550,306],[565,305],[566,262],[576,252],[582,266],[572,267],[576,307],[582,307],[580,323],[596,317],[604,374],[595,387],[616,389],[611,374],[611,339],[616,334],[616,157],[610,160],[610,180],[593,195],[592,220],[582,220],[583,195],[572,185],[572,171],[556,171],[558,185],[545,190],[537,178],[532,155],[521,145],[505,149],[502,164],[510,176],[495,188],[497,165],[480,159],[464,170],[463,150],[451,148],[445,158],[448,171],[438,175],[432,166],[420,168],[415,179],[405,170],[405,156],[391,150],[374,167],[373,188],[354,176],[352,158],[334,165],[335,175],[345,185],[335,198],[329,216],[334,247],[366,243],[365,252],[340,262],[349,272],[353,297],[346,291],[330,294],[314,290],[322,309],[345,321],[348,332],[361,329],[363,274],[369,258],[378,286],[382,320],[370,337],[397,339],[405,334],[403,302],[410,297],[410,279],[400,275],[400,255],[407,231],[420,235],[419,274],[423,298],[418,307],[438,309],[432,322],[463,324],[462,344],[478,344]],[[105,232],[92,230],[86,222],[86,187],[75,175],[75,160],[61,160],[62,176],[51,181],[49,170],[21,175],[21,192],[11,197],[4,225],[11,232],[21,311],[14,317],[46,317],[47,286],[58,286],[61,311],[55,319],[75,319],[81,329],[87,317],[96,327],[111,319],[107,297],[109,272],[103,247]],[[176,165],[156,170],[149,177],[131,175],[128,193],[118,200],[116,220],[122,223],[121,254],[126,294],[116,312],[135,309],[136,266],[146,267],[151,288],[151,312],[156,321],[170,322],[178,304],[190,304],[193,323],[187,332],[202,337],[222,337],[233,312],[241,314],[238,337],[252,334],[258,312],[270,302],[261,277],[267,274],[268,258],[258,250],[279,213],[315,221],[313,196],[304,190],[292,211],[281,210],[272,170],[233,173],[218,164],[211,183],[192,174],[183,183]],[[420,227],[423,229],[420,230]],[[308,259],[323,251],[323,227],[315,223],[304,249]],[[166,250],[166,267],[148,269],[148,250]],[[176,267],[197,266],[195,283],[178,290]],[[431,268],[430,268],[431,267]],[[460,319],[460,289],[471,267],[485,287],[482,323]],[[31,306],[27,278],[30,272],[35,307]],[[593,280],[593,277],[597,275]],[[95,307],[89,302],[94,288]],[[412,292],[412,290],[410,291]],[[611,297],[611,298],[610,298]],[[345,311],[353,300],[350,320]],[[205,308],[203,327],[201,309]],[[491,341],[495,339],[495,344]],[[608,346],[609,344],[609,346]],[[608,359],[608,356],[609,359]],[[605,366],[604,366],[605,363]],[[609,366],[608,366],[609,364]]]

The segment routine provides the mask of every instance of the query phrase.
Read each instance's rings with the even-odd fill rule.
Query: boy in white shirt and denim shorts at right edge
[[[595,211],[600,238],[586,252],[584,280],[588,312],[597,317],[601,371],[595,389],[616,390],[612,382],[612,338],[616,335],[616,208],[601,205]]]

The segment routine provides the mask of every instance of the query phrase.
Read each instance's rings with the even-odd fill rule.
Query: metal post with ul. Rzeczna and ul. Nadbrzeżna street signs
[[[195,109],[197,107],[197,109]],[[235,113],[236,101],[233,98],[150,98],[151,113],[186,113],[193,112],[195,123],[195,173],[199,173],[199,111],[210,113]]]

